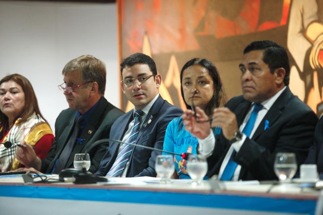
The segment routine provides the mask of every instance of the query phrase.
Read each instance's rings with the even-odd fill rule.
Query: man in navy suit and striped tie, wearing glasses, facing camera
[[[136,145],[163,149],[168,123],[182,114],[158,93],[162,78],[153,59],[136,53],[121,63],[121,88],[134,109],[112,125],[110,138]],[[107,177],[155,177],[159,151],[110,142],[95,173]]]

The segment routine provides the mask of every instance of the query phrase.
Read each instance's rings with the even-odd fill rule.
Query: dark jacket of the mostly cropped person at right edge
[[[323,117],[321,117],[315,128],[314,144],[309,149],[305,163],[316,164],[318,172],[323,173]]]

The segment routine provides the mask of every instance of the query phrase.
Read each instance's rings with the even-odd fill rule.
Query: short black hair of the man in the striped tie
[[[143,53],[135,53],[125,58],[120,64],[120,71],[122,77],[122,70],[126,66],[134,66],[135,64],[147,64],[149,69],[153,72],[153,75],[157,75],[156,64],[153,61],[153,58]]]

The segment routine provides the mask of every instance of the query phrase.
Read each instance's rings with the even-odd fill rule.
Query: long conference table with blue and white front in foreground
[[[54,182],[58,176],[50,178]],[[320,195],[302,183],[164,184],[151,177],[24,183],[21,175],[0,176],[1,215],[314,215]]]

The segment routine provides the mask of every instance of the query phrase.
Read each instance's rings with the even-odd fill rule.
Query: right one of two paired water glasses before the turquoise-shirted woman
[[[207,172],[205,157],[199,154],[188,155],[187,172],[193,180],[193,184],[200,184]]]

